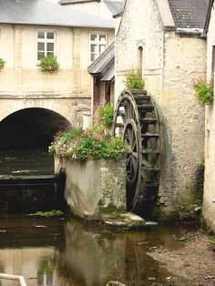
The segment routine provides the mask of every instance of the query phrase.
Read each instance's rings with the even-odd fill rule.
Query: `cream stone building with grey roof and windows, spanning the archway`
[[[0,1],[0,58],[5,61],[0,121],[26,108],[40,108],[81,124],[83,112],[91,108],[87,66],[113,41],[113,20],[45,0]],[[56,56],[57,72],[41,71],[40,59],[46,55]]]

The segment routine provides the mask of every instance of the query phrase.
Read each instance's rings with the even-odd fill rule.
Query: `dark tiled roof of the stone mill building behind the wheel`
[[[203,28],[210,0],[168,0],[176,28]]]

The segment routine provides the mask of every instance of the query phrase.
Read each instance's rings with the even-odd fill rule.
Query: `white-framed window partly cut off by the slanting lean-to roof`
[[[107,34],[90,35],[90,61],[93,62],[97,56],[107,48]]]

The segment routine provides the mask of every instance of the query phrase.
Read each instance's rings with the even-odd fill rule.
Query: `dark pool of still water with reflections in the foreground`
[[[149,248],[181,247],[185,228],[171,227],[116,233],[73,219],[34,219],[2,213],[0,272],[23,275],[26,284],[105,286],[193,285],[166,270],[147,254]],[[174,281],[168,281],[170,276]],[[2,280],[2,285],[17,282]]]

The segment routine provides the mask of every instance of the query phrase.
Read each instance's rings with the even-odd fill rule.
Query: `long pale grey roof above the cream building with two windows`
[[[46,0],[0,0],[0,23],[114,28],[114,22]]]

